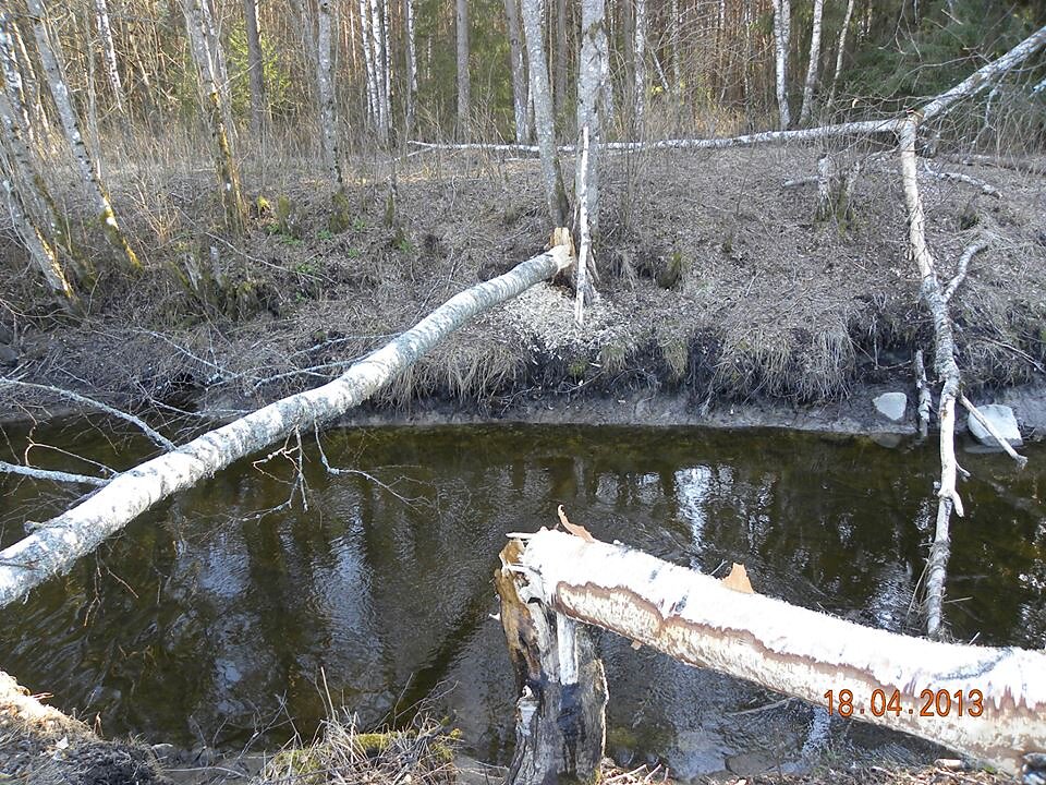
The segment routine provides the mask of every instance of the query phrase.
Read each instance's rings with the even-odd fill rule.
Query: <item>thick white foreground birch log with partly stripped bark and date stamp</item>
[[[761,594],[638,551],[542,530],[514,547],[519,594],[698,667],[816,705],[853,692],[853,718],[937,741],[1007,772],[1046,739],[1046,652],[957,645],[863,627]],[[756,587],[758,588],[758,587]],[[886,706],[872,710],[883,690]],[[949,697],[927,704],[924,691]],[[957,705],[962,693],[963,711]],[[944,700],[944,699],[941,699]],[[973,704],[980,701],[983,711]],[[860,709],[865,712],[861,713]],[[973,709],[973,713],[971,713]]]

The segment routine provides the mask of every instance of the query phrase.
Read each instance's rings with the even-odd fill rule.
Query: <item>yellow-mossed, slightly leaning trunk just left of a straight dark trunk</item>
[[[209,29],[203,3],[207,0],[182,0],[185,15],[185,29],[188,34],[190,51],[196,63],[196,73],[202,93],[202,108],[214,143],[215,171],[218,176],[218,190],[222,214],[229,231],[239,234],[244,229],[246,206],[240,189],[240,171],[233,156],[232,140],[226,125],[231,113],[224,106],[224,92],[219,84],[216,65],[216,52],[210,49],[211,40],[217,41],[214,31]]]

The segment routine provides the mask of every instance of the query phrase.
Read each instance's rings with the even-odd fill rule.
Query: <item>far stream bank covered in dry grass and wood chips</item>
[[[896,164],[867,146],[834,150],[840,170],[854,160],[863,169],[849,209],[819,220],[816,189],[782,183],[815,172],[820,152],[610,156],[599,299],[585,328],[571,321],[568,287],[538,285],[463,328],[370,411],[537,418],[579,400],[609,411],[623,399],[632,413],[622,416],[638,422],[647,422],[644,407],[679,422],[672,412],[682,407],[688,422],[713,412],[714,424],[758,423],[759,411],[774,410],[768,422],[789,426],[828,422],[834,415],[824,412],[848,401],[866,409],[866,394],[879,387],[909,389],[912,355],[931,354],[933,329],[907,258]],[[989,400],[1043,384],[1043,178],[927,166],[1001,193],[929,176],[921,182],[942,280],[963,247],[989,243],[952,300],[968,394]],[[393,212],[388,167],[368,167],[341,210],[321,183],[269,173],[252,194],[255,220],[241,240],[211,229],[202,176],[115,172],[118,206],[146,275],[102,274],[89,315],[73,321],[56,315],[33,276],[5,265],[0,322],[17,355],[14,373],[130,408],[192,400],[229,415],[330,378],[547,241],[533,160],[441,153],[401,160]],[[203,270],[204,283],[190,291],[174,268]],[[9,394],[0,408],[29,402]],[[731,410],[747,420],[732,420]],[[828,427],[846,430],[848,418]]]

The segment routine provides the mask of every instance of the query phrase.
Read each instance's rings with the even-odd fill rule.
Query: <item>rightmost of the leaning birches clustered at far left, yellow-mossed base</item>
[[[59,51],[51,46],[50,33],[47,29],[47,12],[42,0],[27,0],[26,4],[33,19],[33,33],[36,38],[40,63],[47,77],[48,88],[54,99],[54,108],[62,123],[62,130],[65,132],[65,140],[80,169],[81,181],[94,202],[96,218],[101,225],[109,245],[117,252],[117,259],[121,266],[129,271],[138,271],[142,269],[142,263],[138,262],[137,255],[131,249],[131,244],[117,222],[117,215],[109,202],[109,194],[92,164],[90,154],[84,143],[80,130],[80,118],[76,116],[76,109],[69,93]]]

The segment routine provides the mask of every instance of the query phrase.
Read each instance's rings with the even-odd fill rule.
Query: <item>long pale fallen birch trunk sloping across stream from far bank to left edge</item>
[[[569,232],[559,235],[569,237]],[[474,316],[551,278],[572,261],[570,246],[557,244],[502,276],[455,294],[333,382],[278,400],[121,472],[82,504],[35,526],[29,536],[0,551],[0,607],[68,570],[158,502],[277,439],[341,416]]]

